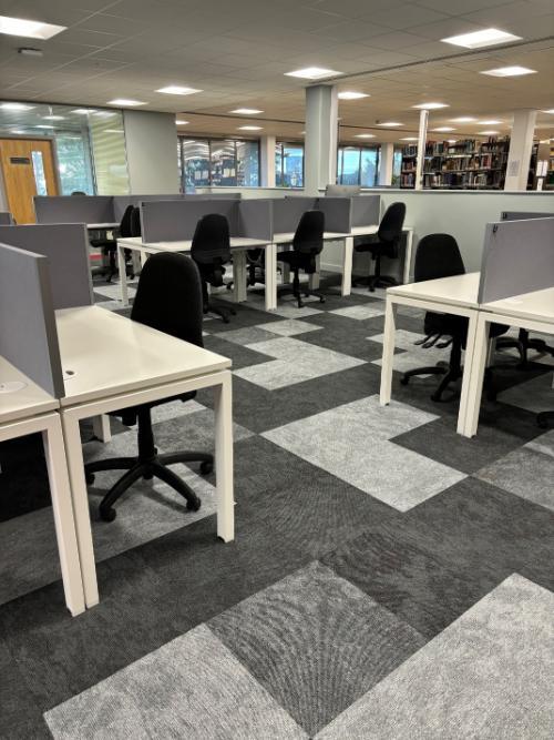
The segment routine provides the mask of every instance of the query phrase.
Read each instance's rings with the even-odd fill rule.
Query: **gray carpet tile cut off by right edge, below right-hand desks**
[[[554,510],[554,458],[523,447],[514,449],[475,476],[499,488]]]

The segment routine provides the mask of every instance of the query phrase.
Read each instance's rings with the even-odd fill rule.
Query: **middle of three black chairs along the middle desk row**
[[[311,275],[317,270],[316,257],[324,249],[325,214],[322,211],[306,211],[302,213],[293,239],[291,252],[278,252],[277,261],[286,262],[294,272],[293,286],[280,291],[293,293],[298,301],[298,307],[304,306],[302,293],[306,297],[315,295],[320,303],[325,303],[325,296],[318,291],[311,291],[307,285],[300,288],[299,271]]]

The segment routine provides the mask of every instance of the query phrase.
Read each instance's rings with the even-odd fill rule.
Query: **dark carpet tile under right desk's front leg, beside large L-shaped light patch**
[[[420,453],[438,463],[472,474],[521,446],[519,436],[481,424],[476,437],[456,433],[451,418],[439,418],[391,439],[397,445]]]

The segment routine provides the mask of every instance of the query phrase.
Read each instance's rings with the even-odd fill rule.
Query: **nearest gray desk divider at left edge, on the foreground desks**
[[[0,355],[47,393],[65,395],[48,260],[1,243]]]

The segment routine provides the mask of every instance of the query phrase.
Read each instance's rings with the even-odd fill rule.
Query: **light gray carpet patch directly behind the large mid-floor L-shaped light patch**
[[[236,371],[235,375],[268,391],[363,364],[362,359],[356,359],[293,337],[258,342],[249,345],[249,348],[275,357],[275,359],[244,367]]]

